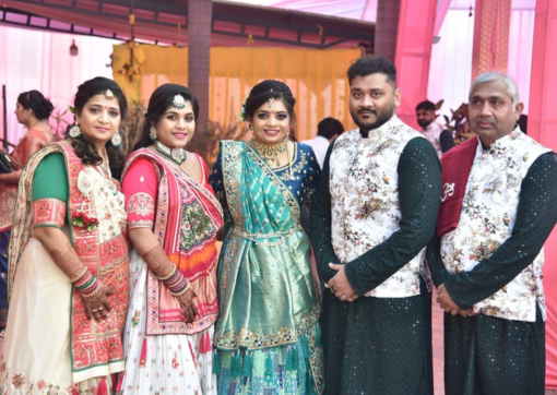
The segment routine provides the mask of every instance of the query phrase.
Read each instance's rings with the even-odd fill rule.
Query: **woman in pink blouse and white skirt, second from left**
[[[181,85],[151,96],[123,175],[131,253],[123,394],[216,393],[216,232],[223,212],[203,159],[187,152],[199,106]]]

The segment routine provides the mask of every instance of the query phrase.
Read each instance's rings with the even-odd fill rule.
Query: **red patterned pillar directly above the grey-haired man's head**
[[[476,0],[472,81],[497,70],[507,72],[511,0]]]

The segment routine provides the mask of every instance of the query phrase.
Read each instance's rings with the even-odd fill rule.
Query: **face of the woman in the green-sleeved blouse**
[[[118,99],[95,95],[85,103],[81,113],[75,115],[75,123],[83,135],[97,146],[105,145],[118,132],[121,113]]]

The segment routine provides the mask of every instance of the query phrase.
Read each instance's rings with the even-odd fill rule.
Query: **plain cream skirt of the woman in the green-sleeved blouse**
[[[29,239],[17,266],[0,361],[0,394],[96,394],[100,378],[72,372],[72,284],[43,244]],[[111,363],[123,370],[123,361]],[[83,380],[80,379],[83,376]],[[111,387],[110,375],[105,379]]]

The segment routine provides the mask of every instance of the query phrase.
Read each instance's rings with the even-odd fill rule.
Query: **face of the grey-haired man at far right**
[[[477,84],[470,93],[470,128],[489,147],[514,129],[524,106],[512,105],[507,85],[501,80]]]

